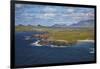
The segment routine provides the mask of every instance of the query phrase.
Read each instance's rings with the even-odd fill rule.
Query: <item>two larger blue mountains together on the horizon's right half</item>
[[[84,20],[69,26],[66,24],[54,24],[52,27],[94,27],[94,20]]]

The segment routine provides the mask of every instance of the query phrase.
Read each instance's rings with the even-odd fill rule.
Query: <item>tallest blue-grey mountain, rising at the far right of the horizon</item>
[[[94,20],[84,20],[70,25],[70,27],[94,27]]]

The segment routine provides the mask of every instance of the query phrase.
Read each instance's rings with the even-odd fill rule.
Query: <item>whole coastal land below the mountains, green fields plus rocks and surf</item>
[[[59,27],[45,27],[45,26],[24,26],[18,25],[16,32],[38,32],[26,36],[25,40],[38,39],[31,43],[34,46],[51,46],[51,47],[67,47],[75,45],[78,42],[94,42],[94,29],[92,27],[81,28],[59,28]]]

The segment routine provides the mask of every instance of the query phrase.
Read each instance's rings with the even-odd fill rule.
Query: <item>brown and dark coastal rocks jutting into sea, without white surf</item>
[[[42,33],[42,34],[34,34],[31,36],[31,38],[37,38],[40,41],[38,44],[42,46],[47,46],[47,45],[56,45],[56,46],[71,46],[73,44],[76,44],[76,41],[66,41],[66,40],[53,40],[49,39],[49,33]]]

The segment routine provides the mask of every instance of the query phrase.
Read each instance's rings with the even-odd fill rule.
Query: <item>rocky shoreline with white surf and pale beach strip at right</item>
[[[26,37],[25,40],[30,40],[32,38],[38,38],[38,40],[34,43],[31,43],[31,45],[35,46],[51,46],[51,47],[65,47],[65,46],[72,46],[75,45],[78,42],[94,42],[94,40],[77,40],[77,41],[67,41],[67,40],[54,40],[49,39],[49,34],[35,34],[29,37]]]

